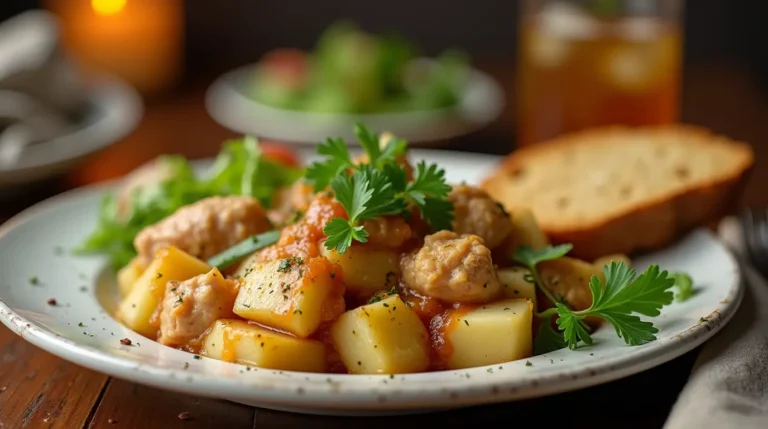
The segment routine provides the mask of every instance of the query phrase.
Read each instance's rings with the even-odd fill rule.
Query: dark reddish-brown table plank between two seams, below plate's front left
[[[180,419],[187,413],[188,419]],[[89,428],[251,429],[254,409],[112,379]],[[111,421],[111,423],[110,423]]]

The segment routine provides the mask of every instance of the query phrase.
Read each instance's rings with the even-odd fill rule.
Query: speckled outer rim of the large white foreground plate
[[[0,225],[0,239],[17,227],[33,220],[36,216],[49,210],[55,210],[60,204],[78,198],[95,198],[95,194],[112,188],[119,181],[120,179],[117,179],[73,189],[35,204]],[[217,376],[211,372],[193,372],[181,368],[161,367],[157,366],[157,363],[138,363],[135,358],[118,357],[85,345],[78,345],[67,337],[48,331],[17,313],[2,298],[0,298],[0,320],[24,340],[86,368],[161,389],[229,399],[236,402],[251,403],[251,405],[269,406],[269,404],[273,404],[275,407],[284,407],[286,404],[290,404],[293,407],[296,403],[301,403],[303,405],[297,406],[295,411],[316,413],[313,410],[324,409],[334,412],[349,410],[385,411],[490,404],[577,390],[636,374],[694,349],[718,332],[730,321],[741,302],[744,290],[741,267],[733,253],[710,231],[697,230],[694,233],[706,234],[708,239],[712,240],[713,245],[718,246],[719,250],[725,254],[733,269],[732,284],[728,286],[726,300],[720,301],[716,310],[710,315],[711,317],[708,317],[704,322],[676,335],[679,345],[669,347],[661,342],[653,342],[641,346],[637,351],[627,356],[616,357],[615,359],[619,362],[607,368],[596,363],[596,365],[585,365],[573,370],[559,369],[547,374],[532,374],[531,376],[512,379],[508,377],[507,379],[496,378],[494,381],[485,382],[457,376],[460,372],[468,373],[471,370],[477,371],[485,367],[439,373],[405,374],[396,376],[404,381],[402,385],[396,385],[399,389],[382,386],[383,390],[379,392],[378,388],[372,389],[370,382],[362,383],[357,382],[357,380],[380,381],[388,379],[388,375],[307,374],[261,369],[250,371],[248,377],[233,379]],[[96,301],[95,297],[92,299]],[[109,317],[111,318],[111,315]],[[546,356],[546,354],[542,356]],[[237,364],[216,362],[225,366],[232,365],[234,368],[242,368],[241,365]],[[503,365],[519,366],[524,365],[524,362],[514,361]],[[279,376],[278,372],[280,373]],[[501,372],[496,374],[501,374]],[[304,377],[307,375],[318,379],[306,381]],[[424,381],[434,382],[435,380],[418,380],[419,376],[430,378],[438,375],[445,375],[437,383],[438,386],[429,386],[431,383],[424,383]],[[319,380],[321,377],[334,381],[323,383]],[[405,382],[412,378],[417,380],[410,385]],[[204,384],[205,389],[202,389],[199,384]]]

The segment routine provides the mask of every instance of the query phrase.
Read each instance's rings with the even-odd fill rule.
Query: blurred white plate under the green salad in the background
[[[352,129],[354,121],[361,120],[372,129],[408,140],[411,146],[427,145],[475,131],[496,119],[504,107],[501,87],[478,70],[472,70],[455,108],[362,115],[302,112],[259,103],[245,92],[252,76],[253,66],[245,66],[219,77],[208,89],[208,112],[238,133],[286,143],[316,144],[338,136],[357,144]]]

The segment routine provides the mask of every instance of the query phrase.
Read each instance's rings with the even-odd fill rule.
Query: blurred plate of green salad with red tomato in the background
[[[207,97],[222,125],[295,143],[329,135],[355,143],[358,120],[414,143],[446,139],[493,121],[503,105],[499,85],[463,54],[418,57],[402,38],[346,22],[329,27],[312,53],[276,49],[225,74]]]

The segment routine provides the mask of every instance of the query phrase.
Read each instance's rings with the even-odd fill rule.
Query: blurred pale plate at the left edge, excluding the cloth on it
[[[27,146],[13,167],[0,168],[0,190],[63,172],[128,135],[141,119],[141,97],[116,77],[94,79],[86,98],[88,111],[72,132]]]

